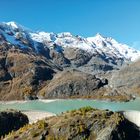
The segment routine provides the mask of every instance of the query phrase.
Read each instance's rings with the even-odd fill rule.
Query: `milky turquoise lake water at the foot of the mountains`
[[[91,106],[98,109],[109,109],[112,111],[137,110],[140,111],[140,98],[130,102],[109,102],[98,100],[55,100],[52,102],[45,101],[27,101],[17,103],[0,103],[0,110],[17,109],[23,111],[47,111],[60,114],[68,110],[78,109],[84,106]]]

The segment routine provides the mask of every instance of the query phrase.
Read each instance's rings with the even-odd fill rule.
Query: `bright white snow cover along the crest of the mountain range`
[[[111,37],[104,37],[101,34],[97,33],[94,37],[81,37],[72,35],[70,32],[62,32],[62,33],[49,33],[49,32],[34,32],[28,30],[26,27],[16,23],[16,22],[8,22],[2,23],[3,26],[7,26],[13,30],[19,30],[23,32],[23,36],[27,36],[39,43],[47,42],[47,46],[51,47],[53,44],[59,45],[63,47],[71,47],[71,48],[79,48],[90,53],[98,52],[104,53],[106,57],[112,55],[112,57],[116,58],[124,58],[128,61],[134,61],[138,57],[140,57],[140,51],[135,50],[128,45],[118,43]],[[6,28],[7,28],[6,27]],[[12,30],[11,30],[12,31]],[[15,32],[17,33],[17,32]],[[11,40],[10,40],[11,41]],[[12,40],[13,41],[13,40]],[[11,42],[12,42],[11,41]],[[14,41],[12,43],[15,43]],[[25,47],[25,46],[24,46]],[[37,51],[37,47],[36,51]],[[109,52],[110,51],[110,52]],[[108,54],[109,53],[109,54]]]

